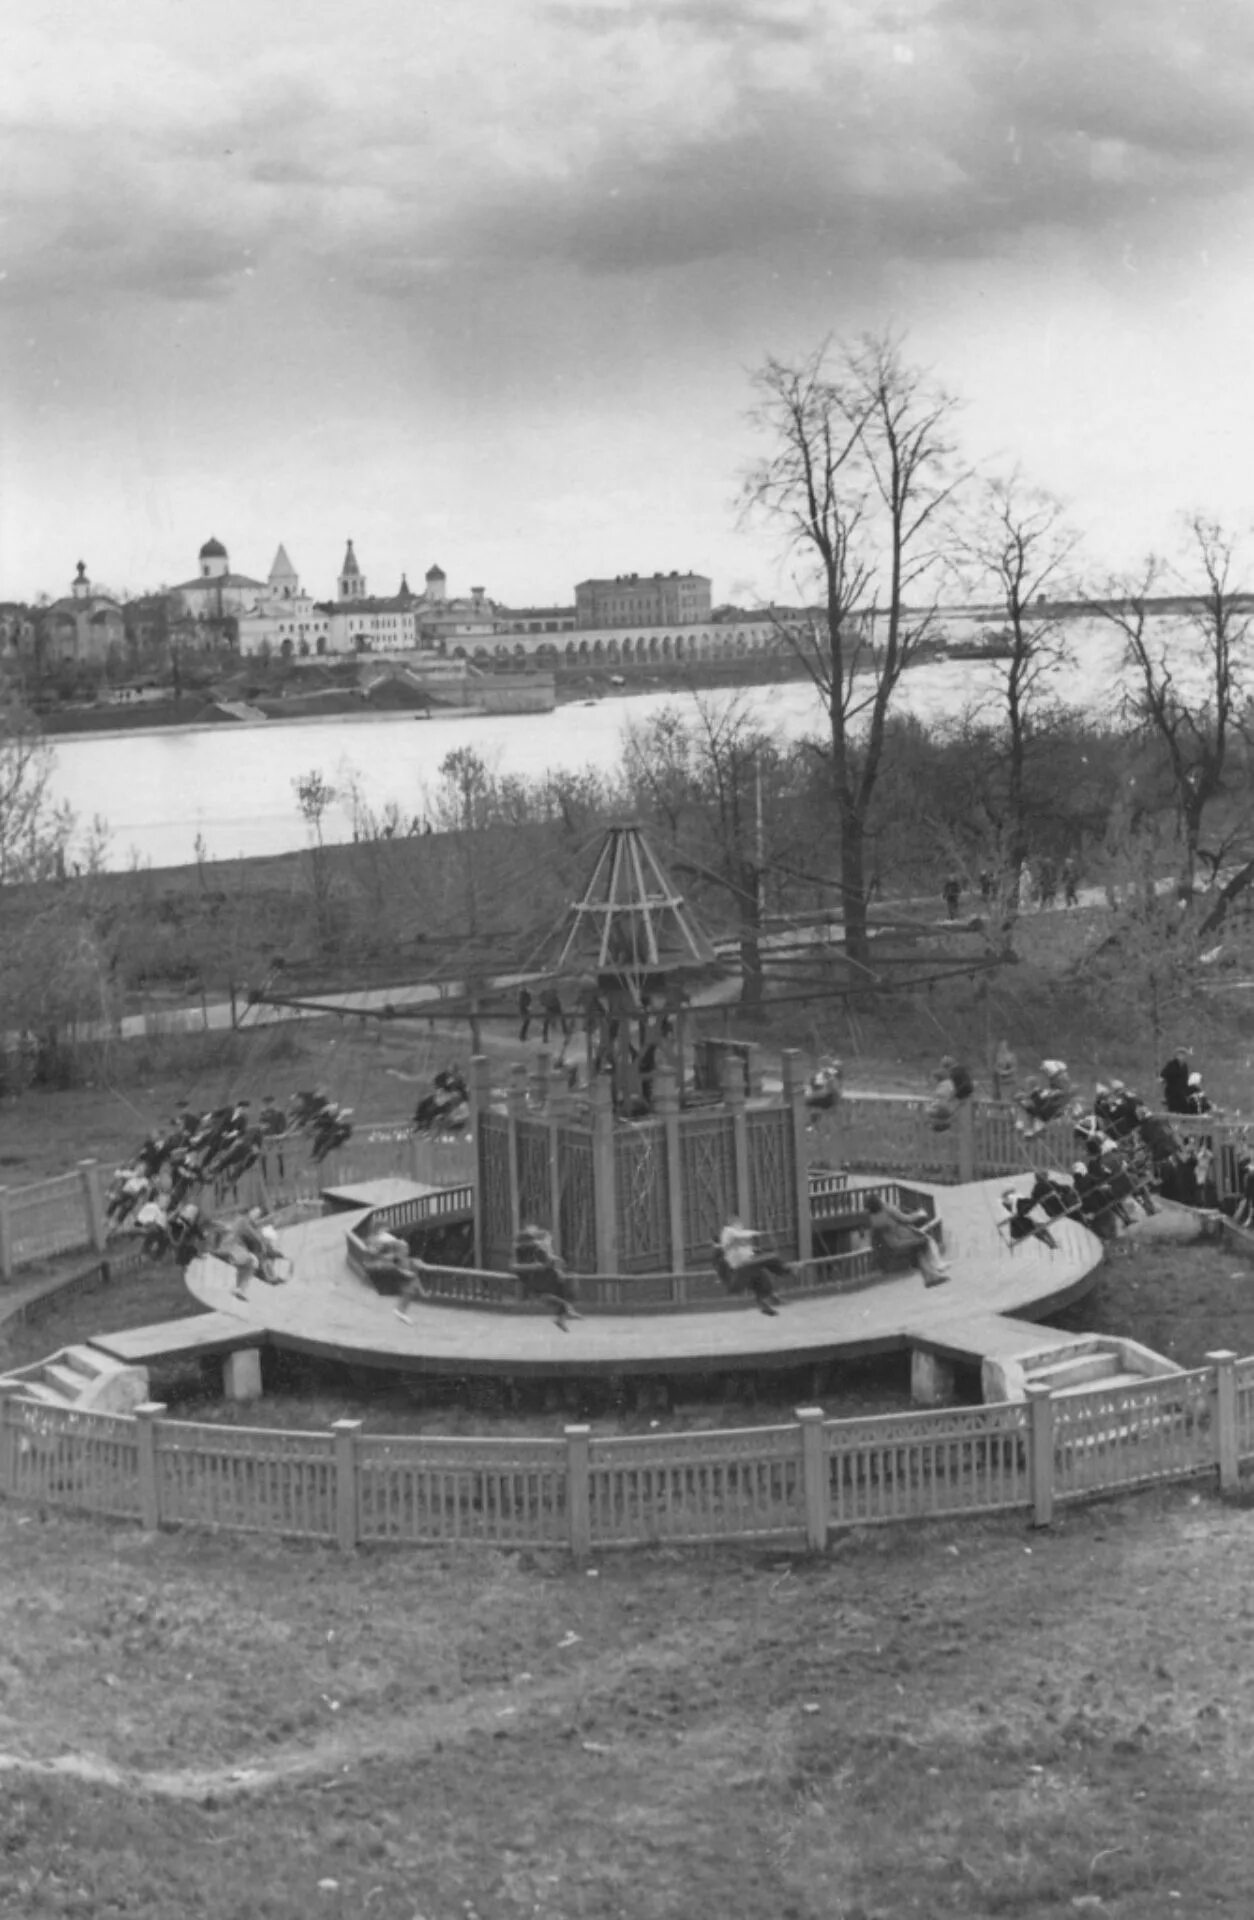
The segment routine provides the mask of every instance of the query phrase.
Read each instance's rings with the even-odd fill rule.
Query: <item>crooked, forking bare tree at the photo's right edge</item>
[[[1239,580],[1241,553],[1235,536],[1204,515],[1193,515],[1187,530],[1202,589],[1189,593],[1185,611],[1170,626],[1154,618],[1160,611],[1154,599],[1171,582],[1170,568],[1156,557],[1146,559],[1137,580],[1095,603],[1095,611],[1123,639],[1127,714],[1162,749],[1179,826],[1179,887],[1191,899],[1198,862],[1210,866],[1214,883],[1235,847],[1233,837],[1225,835],[1216,847],[1204,849],[1202,828],[1206,810],[1227,791],[1235,749],[1241,745],[1254,603]],[[1187,589],[1193,586],[1187,578],[1181,584]],[[1248,864],[1248,877],[1254,877],[1254,862]],[[1242,885],[1248,885],[1248,877]],[[1231,899],[1235,891],[1225,889],[1225,895]],[[1218,922],[1212,918],[1212,924]]]

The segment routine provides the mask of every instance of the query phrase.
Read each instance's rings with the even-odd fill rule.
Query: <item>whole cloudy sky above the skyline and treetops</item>
[[[787,597],[751,376],[883,328],[1108,578],[1250,520],[1252,323],[1248,0],[25,0],[0,597]]]

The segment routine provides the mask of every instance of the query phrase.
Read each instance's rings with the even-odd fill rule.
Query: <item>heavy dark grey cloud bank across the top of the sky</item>
[[[374,0],[317,38],[257,0],[244,61],[169,10],[109,38],[111,13],[90,88],[31,38],[15,61],[10,292],[219,298],[278,257],[405,296],[931,259],[1223,196],[1254,159],[1237,0],[484,0],[436,25]]]

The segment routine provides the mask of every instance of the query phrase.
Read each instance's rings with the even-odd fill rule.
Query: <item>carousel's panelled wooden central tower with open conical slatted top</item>
[[[641,828],[611,828],[545,970],[580,1008],[588,1092],[517,1068],[499,1102],[474,1062],[476,1265],[509,1267],[518,1227],[538,1225],[576,1273],[705,1273],[732,1215],[810,1258],[801,1058],[784,1056],[774,1096],[732,1048],[722,1085],[687,1073],[693,991],[722,972]]]

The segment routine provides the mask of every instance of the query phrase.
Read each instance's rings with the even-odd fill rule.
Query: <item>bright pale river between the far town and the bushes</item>
[[[1068,676],[1068,697],[1106,705],[1112,670],[1110,645],[1093,643],[1083,668]],[[987,666],[939,660],[904,674],[897,708],[924,720],[954,718],[989,685]],[[822,708],[808,682],[707,695],[728,697],[749,703],[760,724],[784,739],[822,732]],[[211,860],[290,852],[307,843],[294,781],[315,768],[342,795],[326,814],[325,835],[350,839],[351,808],[344,795],[353,783],[374,812],[394,801],[409,820],[426,812],[440,762],[455,747],[474,747],[501,774],[586,766],[611,772],[628,720],[645,720],[686,699],[668,691],[616,695],[551,714],[446,720],[384,714],[63,737],[54,741],[52,793],[81,824],[94,814],[106,820],[106,858],[113,868],[133,860],[190,864],[198,837]]]

